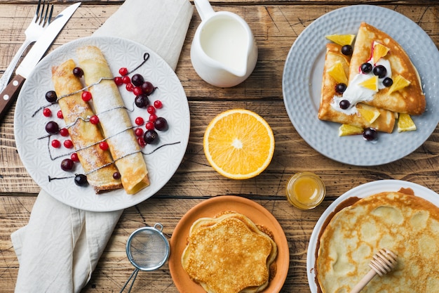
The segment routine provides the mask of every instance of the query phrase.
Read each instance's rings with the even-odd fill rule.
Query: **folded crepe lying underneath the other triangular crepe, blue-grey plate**
[[[323,81],[318,118],[320,120],[337,122],[340,124],[349,124],[362,129],[372,127],[377,129],[377,131],[391,133],[393,131],[393,126],[395,125],[395,114],[389,110],[377,109],[364,103],[358,103],[354,106],[356,109],[353,111],[344,112],[338,110],[337,107],[334,106],[334,103],[339,102],[343,98],[341,93],[337,93],[335,91],[337,82],[328,71],[336,63],[341,63],[347,77],[349,74],[349,61],[349,56],[345,56],[342,53],[342,46],[337,44],[326,45],[325,65],[323,68]],[[379,116],[372,123],[370,123],[368,119],[361,115],[361,113],[358,111],[358,108],[370,111],[377,110],[379,111]]]

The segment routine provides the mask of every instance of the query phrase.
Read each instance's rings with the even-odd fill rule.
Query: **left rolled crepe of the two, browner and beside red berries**
[[[96,193],[121,188],[121,181],[113,178],[117,169],[112,164],[112,156],[108,150],[101,150],[99,147],[99,142],[104,137],[97,125],[88,121],[94,113],[90,105],[82,100],[81,92],[76,93],[83,86],[79,78],[73,74],[75,66],[73,60],[67,60],[53,67],[52,81],[58,97],[68,95],[60,98],[58,103],[65,123],[69,126],[69,134],[79,162],[87,174],[88,183],[93,186]]]

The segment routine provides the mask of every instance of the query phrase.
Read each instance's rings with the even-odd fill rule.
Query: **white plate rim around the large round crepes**
[[[418,185],[416,183],[408,182],[408,181],[400,181],[400,180],[381,180],[381,181],[373,181],[370,183],[365,183],[363,185],[359,185],[356,188],[349,190],[344,193],[340,197],[337,198],[329,207],[323,212],[320,219],[318,219],[316,226],[313,229],[313,233],[311,234],[311,238],[309,240],[308,252],[306,255],[306,273],[308,275],[308,283],[311,289],[311,293],[317,293],[317,285],[316,285],[316,249],[317,249],[317,241],[320,235],[320,230],[323,227],[323,224],[327,220],[327,217],[330,216],[332,211],[350,197],[358,197],[363,198],[370,195],[374,195],[377,193],[385,192],[385,191],[398,191],[401,188],[411,188],[414,191],[414,195],[417,197],[424,198],[424,200],[428,200],[429,202],[435,204],[439,207],[439,195],[435,193],[433,190],[428,189],[422,185]]]

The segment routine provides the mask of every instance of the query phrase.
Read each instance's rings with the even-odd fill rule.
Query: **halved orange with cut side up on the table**
[[[247,179],[261,174],[271,162],[274,136],[255,112],[233,109],[212,119],[203,139],[205,157],[219,174]]]

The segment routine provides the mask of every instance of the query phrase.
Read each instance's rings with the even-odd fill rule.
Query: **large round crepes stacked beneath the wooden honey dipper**
[[[316,257],[321,292],[351,292],[381,248],[398,254],[396,268],[362,292],[439,292],[439,207],[400,191],[358,200],[323,228]]]

